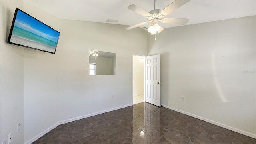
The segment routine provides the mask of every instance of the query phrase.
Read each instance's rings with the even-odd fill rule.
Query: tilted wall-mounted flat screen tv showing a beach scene
[[[55,54],[60,32],[16,8],[7,43]]]

